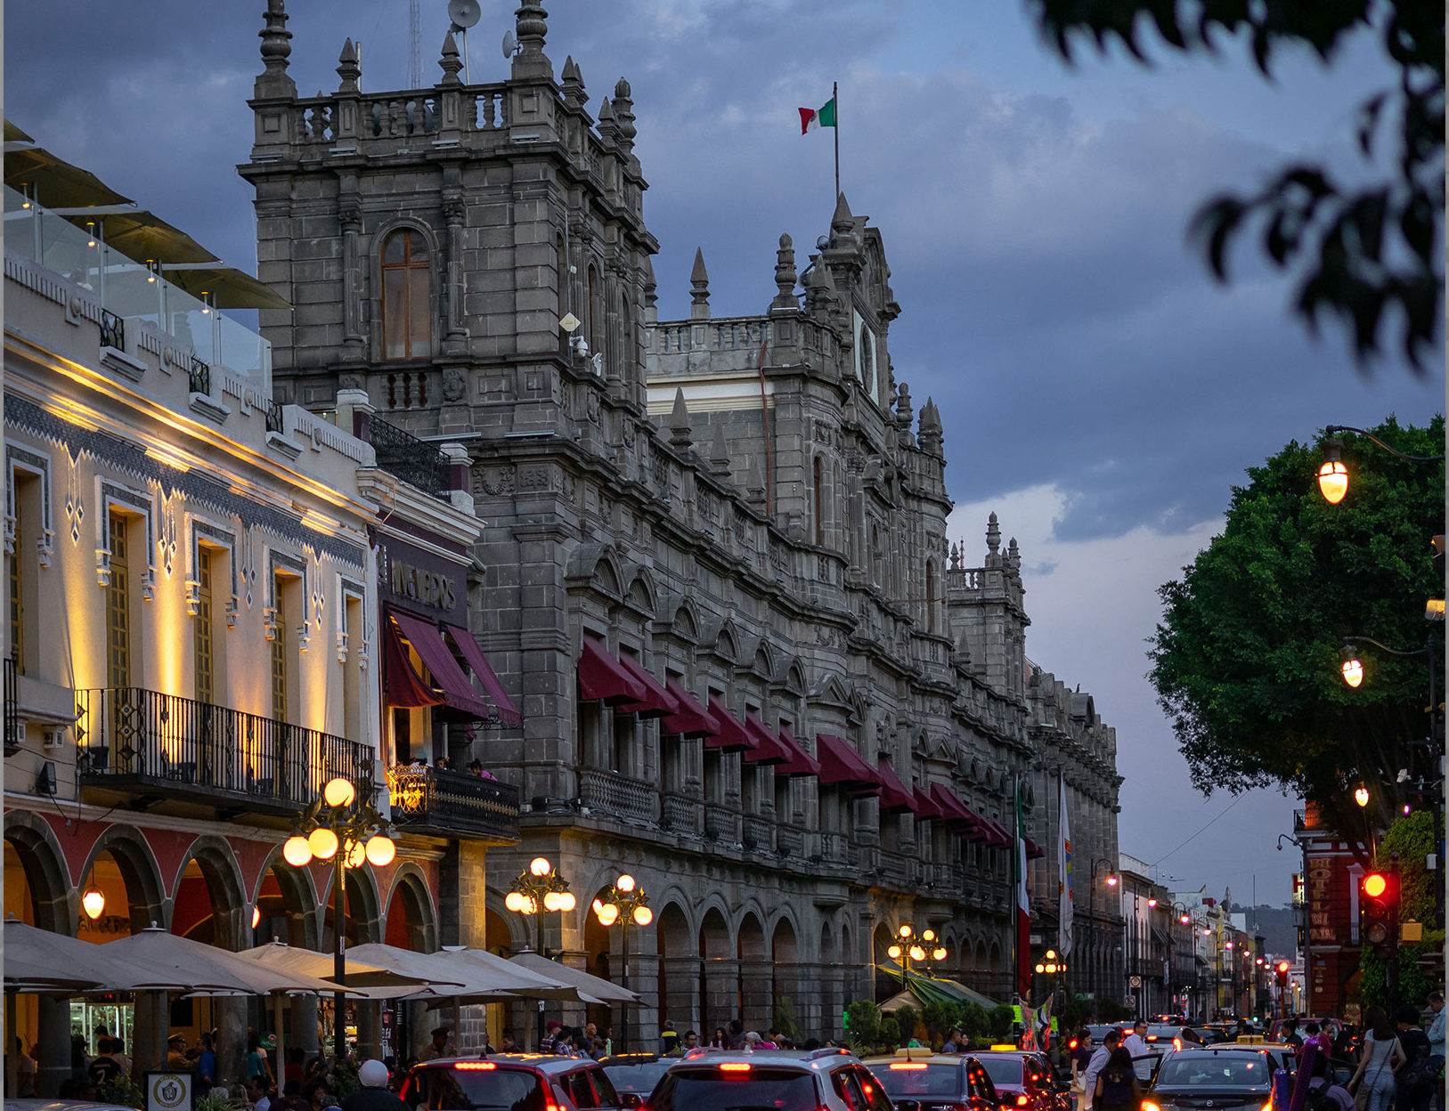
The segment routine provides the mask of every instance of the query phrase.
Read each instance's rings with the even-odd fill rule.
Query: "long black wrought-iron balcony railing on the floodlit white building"
[[[333,776],[372,776],[367,745],[141,687],[75,692],[81,785],[300,810]]]

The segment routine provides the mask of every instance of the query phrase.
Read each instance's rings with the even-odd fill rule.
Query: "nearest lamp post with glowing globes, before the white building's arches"
[[[361,788],[361,789],[359,789]],[[342,984],[346,979],[346,920],[348,920],[348,868],[371,863],[385,868],[397,856],[397,843],[391,827],[377,813],[374,800],[377,784],[371,778],[361,784],[343,779],[341,775],[327,779],[322,797],[314,798],[303,811],[297,831],[283,844],[283,859],[293,868],[306,868],[317,860],[332,860],[333,926],[332,926],[332,978]],[[348,1055],[346,1001],[339,991],[332,997],[335,1037],[333,1053],[338,1060]]]

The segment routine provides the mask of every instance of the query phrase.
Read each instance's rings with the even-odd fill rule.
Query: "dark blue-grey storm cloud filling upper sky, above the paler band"
[[[6,113],[249,265],[251,190],[233,167],[251,146],[264,6],[10,4]],[[362,42],[364,88],[406,84],[406,0],[290,7],[300,90],[336,87],[346,36]],[[500,80],[514,4],[483,7],[472,77]],[[548,52],[582,67],[591,110],[620,75],[633,85],[664,317],[687,311],[696,246],[716,314],[768,304],[780,232],[803,264],[833,207],[833,136],[801,138],[796,107],[840,83],[843,188],[882,230],[904,309],[895,374],[917,406],[933,395],[942,408],[958,500],[1053,484],[1064,539],[1174,530],[1220,513],[1242,469],[1290,437],[1439,408],[1442,378],[1416,385],[1390,364],[1365,387],[1337,332],[1307,340],[1284,311],[1288,288],[1250,252],[1243,285],[1211,284],[1184,243],[1191,211],[1287,155],[1211,122],[1174,83],[1088,116],[1042,55],[1052,91],[1001,91],[961,65],[987,67],[994,30],[961,6],[913,20],[867,0],[548,7]],[[445,28],[440,0],[425,3],[426,80]],[[910,64],[953,36],[972,45]],[[1342,143],[1319,145],[1308,154],[1348,162]]]

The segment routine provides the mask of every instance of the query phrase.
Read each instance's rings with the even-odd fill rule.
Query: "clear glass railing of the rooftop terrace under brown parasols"
[[[94,291],[107,311],[123,320],[151,322],[199,359],[248,378],[261,393],[271,394],[270,342],[9,185],[4,245],[6,251]]]

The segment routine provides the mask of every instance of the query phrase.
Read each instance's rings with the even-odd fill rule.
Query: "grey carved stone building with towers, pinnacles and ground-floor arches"
[[[649,894],[636,1033],[764,1028],[788,998],[838,1036],[845,1002],[894,991],[872,966],[903,923],[1009,998],[1011,853],[985,823],[1014,823],[1020,785],[1055,943],[1058,776],[1077,859],[1116,859],[1116,737],[1026,659],[1020,553],[995,519],[982,559],[948,545],[940,417],[894,377],[880,230],[842,197],[803,275],[781,238],[767,311],[711,317],[697,258],[690,319],[659,322],[629,83],[591,114],[572,58],[555,80],[539,4],[517,10],[504,83],[464,85],[448,41],[433,88],[361,93],[348,45],[320,97],[287,77],[281,7],[241,167],[259,277],[296,306],[261,314],[277,390],[330,408],[362,388],[388,422],[467,445],[487,521],[469,620],[523,726],[459,730],[449,755],[525,800],[522,844],[490,853],[488,944],[533,943],[503,897],[543,855],[578,897],[545,944],[596,972],[617,978],[620,939],[594,895],[620,871]],[[585,636],[816,756],[843,739],[910,805],[582,700]],[[933,814],[933,788],[982,824]]]

